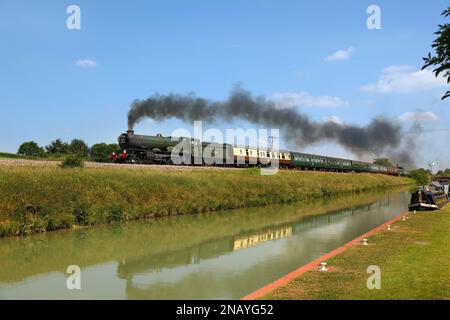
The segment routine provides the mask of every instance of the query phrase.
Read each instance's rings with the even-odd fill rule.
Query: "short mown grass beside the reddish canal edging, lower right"
[[[264,299],[450,299],[450,207],[410,215],[309,271]],[[381,289],[366,286],[367,267],[381,270]]]

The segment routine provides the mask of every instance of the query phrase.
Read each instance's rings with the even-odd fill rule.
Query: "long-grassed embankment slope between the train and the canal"
[[[289,203],[409,184],[375,174],[0,167],[0,236]]]

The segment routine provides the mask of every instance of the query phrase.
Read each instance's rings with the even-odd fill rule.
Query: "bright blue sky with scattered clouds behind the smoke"
[[[81,8],[81,30],[66,27],[71,4]],[[381,30],[366,27],[371,4],[381,8]],[[415,121],[424,130],[448,127],[445,85],[419,72],[447,5],[0,0],[0,150],[16,152],[26,140],[115,142],[134,99],[155,92],[224,99],[236,83],[316,121],[364,125],[381,115],[405,131]],[[170,135],[191,126],[143,121],[136,131]],[[427,151],[418,164],[450,167],[448,138],[449,131],[417,136]],[[355,157],[332,142],[304,151]]]

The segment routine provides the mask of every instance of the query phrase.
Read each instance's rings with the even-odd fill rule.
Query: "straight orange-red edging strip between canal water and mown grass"
[[[321,262],[326,262],[327,260],[333,258],[334,256],[337,256],[338,254],[341,254],[342,252],[344,252],[345,250],[359,244],[363,239],[369,237],[370,235],[383,231],[387,228],[388,225],[392,225],[393,223],[397,222],[398,220],[402,219],[403,216],[408,215],[409,212],[402,212],[400,213],[397,217],[386,221],[385,223],[379,225],[378,227],[373,228],[372,230],[360,235],[359,237],[347,242],[346,244],[344,244],[343,246],[340,246],[337,249],[334,249],[333,251],[330,251],[329,253],[323,255],[320,258],[315,259],[314,261],[311,261],[310,263],[298,268],[297,270],[294,270],[290,273],[288,273],[287,275],[279,278],[278,280],[275,280],[272,283],[269,283],[267,285],[265,285],[264,287],[246,295],[245,297],[243,297],[241,300],[255,300],[255,299],[259,299],[262,296],[268,294],[269,292],[278,289],[280,287],[283,287],[285,285],[287,285],[289,282],[291,282],[292,280],[300,277],[301,275],[303,275],[304,273],[313,270],[314,268],[318,267],[320,265]]]

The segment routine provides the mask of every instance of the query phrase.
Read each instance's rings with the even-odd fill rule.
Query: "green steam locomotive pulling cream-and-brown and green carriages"
[[[373,172],[402,175],[399,166],[384,166],[369,162],[307,154],[289,150],[252,148],[232,144],[200,142],[184,137],[146,136],[128,130],[118,138],[119,153],[113,153],[110,160],[117,163],[134,164],[192,164],[199,166],[254,167],[270,166],[276,160],[280,168],[332,172]],[[174,148],[184,145],[181,156],[185,162],[174,163]],[[187,150],[187,151],[186,151]],[[178,154],[178,151],[175,152]],[[217,161],[219,160],[221,161]],[[187,160],[187,161],[186,161]]]

